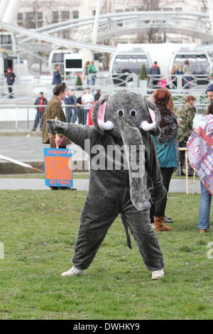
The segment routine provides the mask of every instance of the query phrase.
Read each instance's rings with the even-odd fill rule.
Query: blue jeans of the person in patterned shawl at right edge
[[[209,229],[209,218],[210,218],[210,205],[212,195],[209,193],[207,188],[204,187],[202,181],[200,181],[200,208],[199,208],[199,230]]]

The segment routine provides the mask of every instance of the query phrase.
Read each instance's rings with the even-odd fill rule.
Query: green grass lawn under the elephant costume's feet
[[[212,319],[212,232],[197,232],[200,195],[168,196],[173,232],[158,232],[165,278],[126,247],[119,218],[109,229],[87,276],[60,277],[70,269],[86,192],[0,192],[1,319]]]

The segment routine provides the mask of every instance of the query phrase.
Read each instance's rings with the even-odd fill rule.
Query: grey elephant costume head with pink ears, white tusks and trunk
[[[109,131],[112,136],[121,137],[129,168],[131,201],[138,210],[148,210],[150,203],[145,198],[143,175],[146,161],[145,154],[141,161],[140,150],[144,150],[148,132],[156,136],[159,134],[160,112],[141,94],[119,90],[95,104],[92,119],[99,134]],[[135,173],[136,165],[143,166],[138,173]]]

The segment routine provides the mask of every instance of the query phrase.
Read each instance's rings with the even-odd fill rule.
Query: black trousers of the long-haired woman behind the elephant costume
[[[173,175],[174,167],[162,167],[160,168],[160,172],[163,178],[163,185],[165,186],[165,189],[168,190],[170,188],[170,180]],[[151,222],[153,223],[154,219],[153,216],[155,217],[165,217],[165,207],[167,203],[167,193],[165,194],[164,198],[161,200],[158,200],[157,203],[151,205],[151,210],[150,210],[150,217],[151,217]]]

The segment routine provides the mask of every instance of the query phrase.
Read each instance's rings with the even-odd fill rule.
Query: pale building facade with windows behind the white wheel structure
[[[74,18],[88,18],[95,15],[97,0],[64,0],[62,4],[54,0],[22,0],[18,9],[17,23],[23,28],[40,28],[52,23],[67,21]],[[122,13],[126,11],[197,11],[207,12],[206,0],[182,1],[182,0],[102,0],[101,14],[107,13]],[[122,24],[122,23],[121,23]],[[55,36],[61,38],[75,39],[80,28],[72,28],[72,31],[64,30],[55,33]],[[148,43],[146,36],[140,34],[119,36],[111,39],[112,44],[116,43]],[[155,33],[155,39],[152,43],[162,42],[174,43],[192,43],[195,38],[176,34],[158,34]]]

